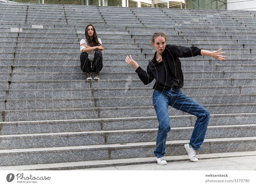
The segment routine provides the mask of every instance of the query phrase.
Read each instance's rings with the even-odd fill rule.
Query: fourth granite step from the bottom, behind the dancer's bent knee
[[[151,104],[153,105],[153,104]],[[234,114],[255,112],[255,103],[239,104],[207,104],[204,107],[211,114]],[[70,109],[26,109],[26,110],[0,110],[1,121],[30,121],[30,120],[60,120],[60,119],[95,119],[95,118],[122,118],[145,117],[156,114],[153,106],[127,106],[127,107],[93,107]],[[187,113],[169,108],[173,115]]]

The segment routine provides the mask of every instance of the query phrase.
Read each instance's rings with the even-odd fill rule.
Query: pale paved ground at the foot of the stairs
[[[256,156],[201,159],[198,162],[176,161],[167,162],[167,165],[162,166],[157,163],[147,163],[80,170],[256,170]]]

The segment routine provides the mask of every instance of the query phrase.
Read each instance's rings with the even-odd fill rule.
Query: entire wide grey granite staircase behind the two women
[[[180,58],[182,91],[211,113],[203,158],[256,154],[256,12],[0,2],[0,170],[61,170],[155,162],[158,121],[146,69],[153,33],[167,44],[226,52]],[[92,19],[93,18],[93,19]],[[95,26],[105,47],[99,81],[80,69]],[[168,161],[187,160],[196,118],[170,107]]]

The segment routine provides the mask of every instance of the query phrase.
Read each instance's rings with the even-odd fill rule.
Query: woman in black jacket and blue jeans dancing
[[[178,45],[166,45],[166,36],[158,32],[152,36],[152,46],[155,47],[154,58],[148,63],[147,72],[143,70],[132,56],[126,57],[125,61],[136,69],[140,80],[147,85],[154,79],[156,83],[153,87],[152,95],[156,116],[159,121],[156,136],[156,149],[154,154],[159,165],[166,165],[164,159],[165,142],[167,133],[170,131],[170,119],[168,105],[173,108],[187,112],[197,117],[190,142],[185,144],[189,159],[197,162],[196,151],[199,151],[210,119],[210,113],[195,100],[184,95],[181,91],[183,87],[183,73],[179,58],[194,57],[197,55],[212,56],[217,60],[225,60],[225,52],[208,51],[197,47],[184,47]]]

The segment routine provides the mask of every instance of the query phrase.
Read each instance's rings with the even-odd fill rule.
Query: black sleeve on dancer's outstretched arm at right
[[[169,51],[176,58],[189,58],[201,55],[201,49],[197,47],[184,47],[179,45],[169,45]]]

